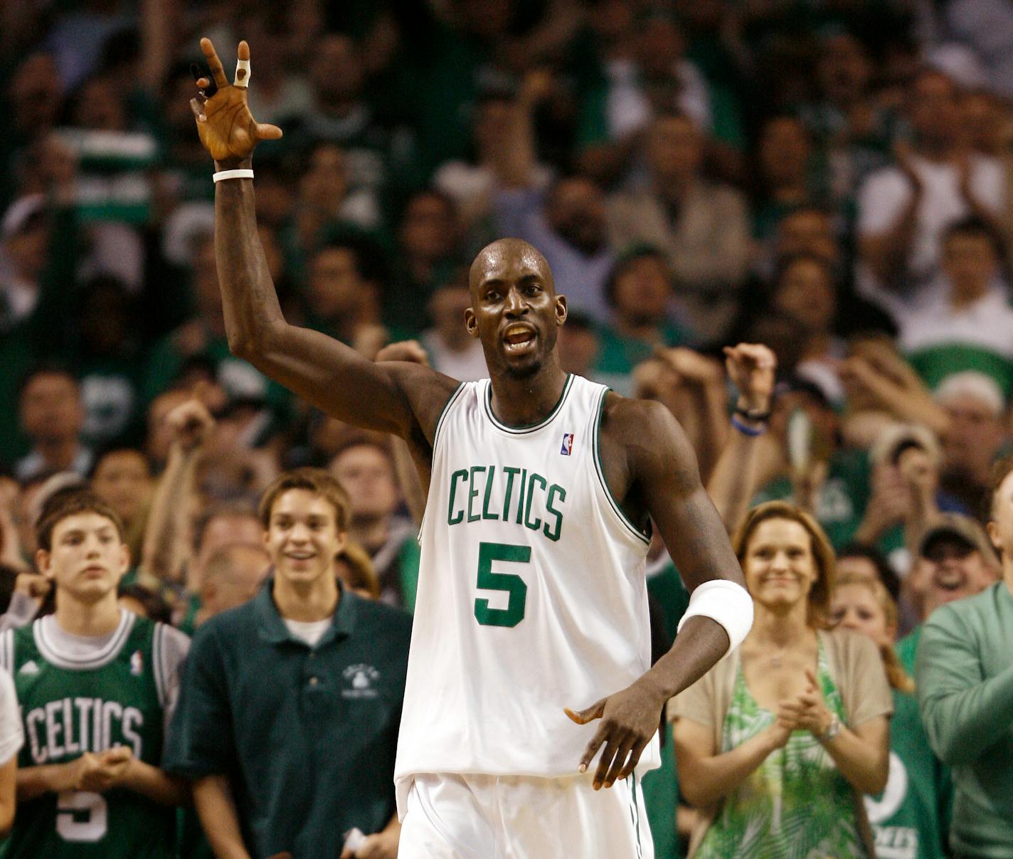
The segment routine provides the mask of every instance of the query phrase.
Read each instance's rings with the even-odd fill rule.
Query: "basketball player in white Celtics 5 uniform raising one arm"
[[[246,106],[246,43],[234,85],[201,44],[212,76],[191,107],[218,171],[232,350],[328,414],[406,440],[428,486],[395,768],[400,859],[651,856],[637,783],[658,764],[661,708],[752,624],[685,435],[664,406],[563,373],[566,300],[517,239],[471,266],[464,324],[490,379],[373,364],[286,322],[250,160],[258,140],[282,133]],[[683,633],[653,668],[651,521],[695,589]]]

